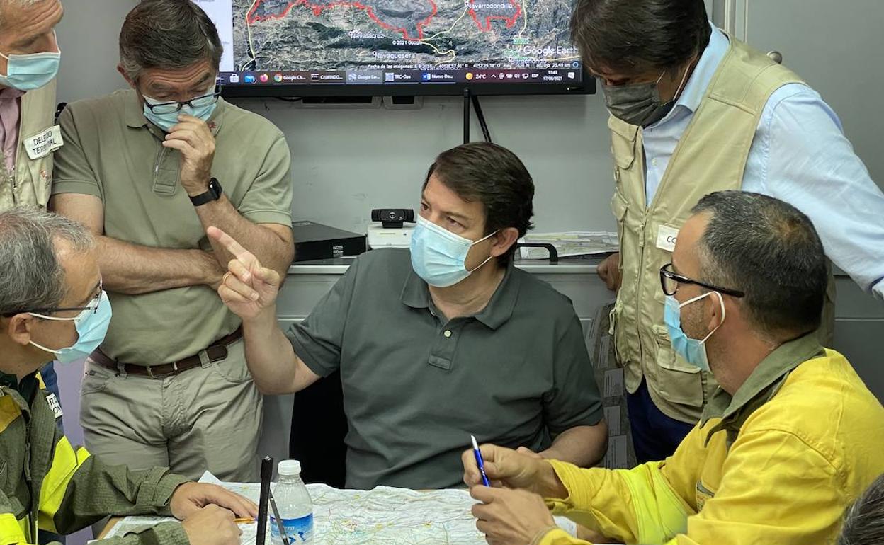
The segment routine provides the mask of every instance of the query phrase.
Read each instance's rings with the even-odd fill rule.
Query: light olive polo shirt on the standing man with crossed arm
[[[211,250],[179,182],[178,150],[148,122],[133,90],[69,104],[59,118],[65,146],[55,155],[53,194],[94,195],[104,234],[141,246]],[[211,175],[253,223],[291,224],[291,154],[267,119],[219,100]],[[143,295],[108,292],[113,319],[102,351],[116,360],[156,365],[201,351],[239,327],[209,286]]]

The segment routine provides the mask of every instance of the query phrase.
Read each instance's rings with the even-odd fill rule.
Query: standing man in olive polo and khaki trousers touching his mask
[[[291,156],[270,122],[218,100],[221,51],[195,4],[135,7],[118,68],[133,89],[62,114],[52,205],[97,236],[114,308],[82,382],[89,450],[113,464],[248,481],[261,395],[240,319],[215,292],[232,256],[205,231],[234,231],[285,271]]]

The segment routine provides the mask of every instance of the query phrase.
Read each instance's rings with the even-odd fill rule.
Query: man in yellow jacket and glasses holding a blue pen
[[[492,544],[831,543],[844,509],[884,472],[884,408],[818,328],[827,266],[810,220],[758,193],[703,198],[660,270],[675,351],[720,387],[665,461],[580,469],[484,445],[464,480]]]

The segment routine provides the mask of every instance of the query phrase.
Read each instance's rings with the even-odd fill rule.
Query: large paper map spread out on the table
[[[210,481],[203,476],[201,481]],[[223,482],[222,486],[257,501],[258,483]],[[476,503],[466,490],[418,492],[407,488],[377,487],[373,490],[340,490],[324,484],[309,484],[313,500],[314,545],[413,545],[414,543],[457,543],[482,545],[484,535],[476,530],[470,513]],[[107,537],[141,531],[163,517],[126,517]],[[576,526],[556,518],[569,534]],[[242,545],[255,545],[256,523],[241,525]],[[270,535],[270,532],[268,532]]]

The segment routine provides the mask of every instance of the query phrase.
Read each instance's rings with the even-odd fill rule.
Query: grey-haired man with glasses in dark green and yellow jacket
[[[165,467],[105,465],[56,426],[61,409],[37,370],[91,352],[110,321],[87,229],[35,208],[0,212],[0,264],[0,545],[36,543],[38,530],[69,534],[109,514],[184,519],[109,543],[238,545],[234,514],[254,517],[254,503]]]

